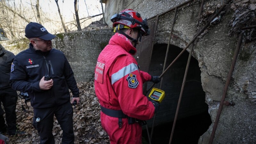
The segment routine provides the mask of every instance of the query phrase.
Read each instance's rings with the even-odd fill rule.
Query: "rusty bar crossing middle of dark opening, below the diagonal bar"
[[[176,109],[176,113],[175,113],[175,117],[174,117],[174,121],[173,121],[173,125],[172,125],[172,133],[171,133],[169,144],[172,143],[172,136],[173,136],[174,128],[175,128],[175,125],[176,125],[176,121],[177,121],[177,117],[178,117],[178,113],[179,113],[179,109],[180,109],[181,97],[182,97],[184,87],[185,87],[185,83],[186,83],[186,79],[187,79],[188,68],[189,68],[189,63],[190,63],[190,60],[191,60],[191,55],[192,55],[193,48],[194,48],[194,43],[191,45],[189,56],[188,56],[188,62],[187,62],[187,66],[186,66],[186,70],[185,70],[181,90],[180,90],[180,97],[179,97],[179,101],[178,101],[178,105],[177,105],[177,109]]]

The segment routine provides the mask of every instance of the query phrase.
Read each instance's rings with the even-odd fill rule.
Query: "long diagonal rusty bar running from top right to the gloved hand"
[[[224,5],[222,5],[222,6],[220,7],[219,11],[216,12],[216,13],[212,16],[212,18],[207,22],[207,24],[204,25],[204,27],[196,34],[196,36],[194,36],[194,38],[188,43],[188,45],[180,52],[180,54],[179,54],[179,55],[172,61],[172,63],[164,70],[164,72],[161,74],[160,78],[161,78],[161,77],[166,73],[166,71],[173,65],[173,63],[174,63],[177,59],[179,59],[179,57],[181,56],[181,54],[183,54],[183,52],[185,52],[185,51],[187,50],[187,48],[190,46],[190,44],[192,44],[192,43],[196,40],[197,36],[199,36],[199,35],[204,31],[204,29],[207,28],[207,27],[210,25],[211,21],[212,21],[217,15],[219,15],[219,13],[225,8],[225,6],[226,6],[230,1],[231,1],[231,0],[228,0],[228,1],[226,2],[226,4],[224,4]],[[155,83],[151,85],[151,87],[148,89],[148,91],[149,91],[154,85],[155,85]],[[148,91],[147,91],[147,93],[148,93]]]

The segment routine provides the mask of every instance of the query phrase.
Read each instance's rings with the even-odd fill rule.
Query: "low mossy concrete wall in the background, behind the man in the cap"
[[[74,71],[76,82],[93,80],[98,55],[108,44],[114,33],[111,29],[57,34],[52,41],[56,48],[66,55]],[[28,48],[28,39],[6,41],[1,44],[15,55]]]

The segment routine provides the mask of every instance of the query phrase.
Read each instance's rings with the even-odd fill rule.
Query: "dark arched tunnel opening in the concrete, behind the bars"
[[[166,49],[167,44],[154,45],[149,74],[154,76],[162,74]],[[171,64],[182,50],[177,46],[170,45],[165,68]],[[164,75],[161,89],[165,91],[165,97],[156,113],[152,144],[169,143],[188,55],[187,51],[184,52]],[[151,85],[152,83],[147,84],[147,90]],[[154,87],[159,88],[160,83],[155,84]],[[149,92],[147,96],[148,94]],[[152,119],[148,121],[149,132],[151,132],[152,121]],[[199,137],[207,131],[211,123],[208,105],[205,103],[205,92],[201,85],[201,71],[198,61],[191,57],[172,144],[197,144]],[[148,136],[145,129],[142,132],[142,136],[145,138],[143,143],[147,143]]]

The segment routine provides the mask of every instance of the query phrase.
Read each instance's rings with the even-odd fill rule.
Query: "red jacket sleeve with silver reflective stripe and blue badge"
[[[140,120],[154,116],[154,105],[142,94],[142,77],[131,56],[119,57],[109,69],[109,75],[124,114]]]

